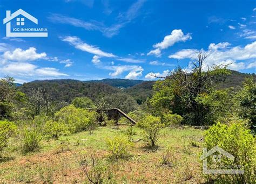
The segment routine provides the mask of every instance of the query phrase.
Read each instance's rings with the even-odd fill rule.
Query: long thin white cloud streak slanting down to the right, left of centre
[[[83,43],[83,41],[80,40],[80,38],[78,37],[68,36],[68,37],[61,37],[60,39],[62,41],[68,42],[69,44],[75,46],[75,48],[80,49],[81,51],[89,52],[98,56],[105,56],[108,58],[116,57],[112,53],[103,52],[102,50],[99,49],[99,47]]]

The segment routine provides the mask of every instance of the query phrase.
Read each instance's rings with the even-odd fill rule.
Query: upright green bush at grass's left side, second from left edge
[[[21,147],[23,153],[38,150],[40,142],[43,139],[42,128],[35,123],[32,125],[24,125],[19,132],[21,139]]]

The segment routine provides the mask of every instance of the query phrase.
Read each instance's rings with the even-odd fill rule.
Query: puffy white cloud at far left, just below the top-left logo
[[[13,52],[4,52],[3,57],[4,59],[10,61],[34,61],[38,59],[44,59],[46,57],[45,52],[37,53],[36,50],[37,49],[35,47],[30,47],[26,50],[16,48]]]

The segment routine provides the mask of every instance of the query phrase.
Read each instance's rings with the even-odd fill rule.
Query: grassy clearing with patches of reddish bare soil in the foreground
[[[126,135],[128,126],[119,130],[99,127],[92,134],[80,132],[58,140],[44,140],[38,152],[22,155],[18,140],[11,140],[0,160],[0,182],[35,183],[88,183],[76,159],[82,151],[93,149],[98,157],[110,165],[108,183],[173,183],[203,182],[199,153],[203,142],[203,130],[193,128],[165,128],[157,149],[149,149],[138,141],[129,150],[129,157],[113,161],[107,151],[105,139]],[[134,128],[134,140],[143,138]],[[171,165],[161,164],[167,147],[172,147]]]

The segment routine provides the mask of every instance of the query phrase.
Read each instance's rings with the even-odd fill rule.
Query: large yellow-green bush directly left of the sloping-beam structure
[[[58,122],[63,122],[71,133],[94,130],[96,117],[95,112],[76,108],[74,105],[66,106],[56,112],[55,117]]]

